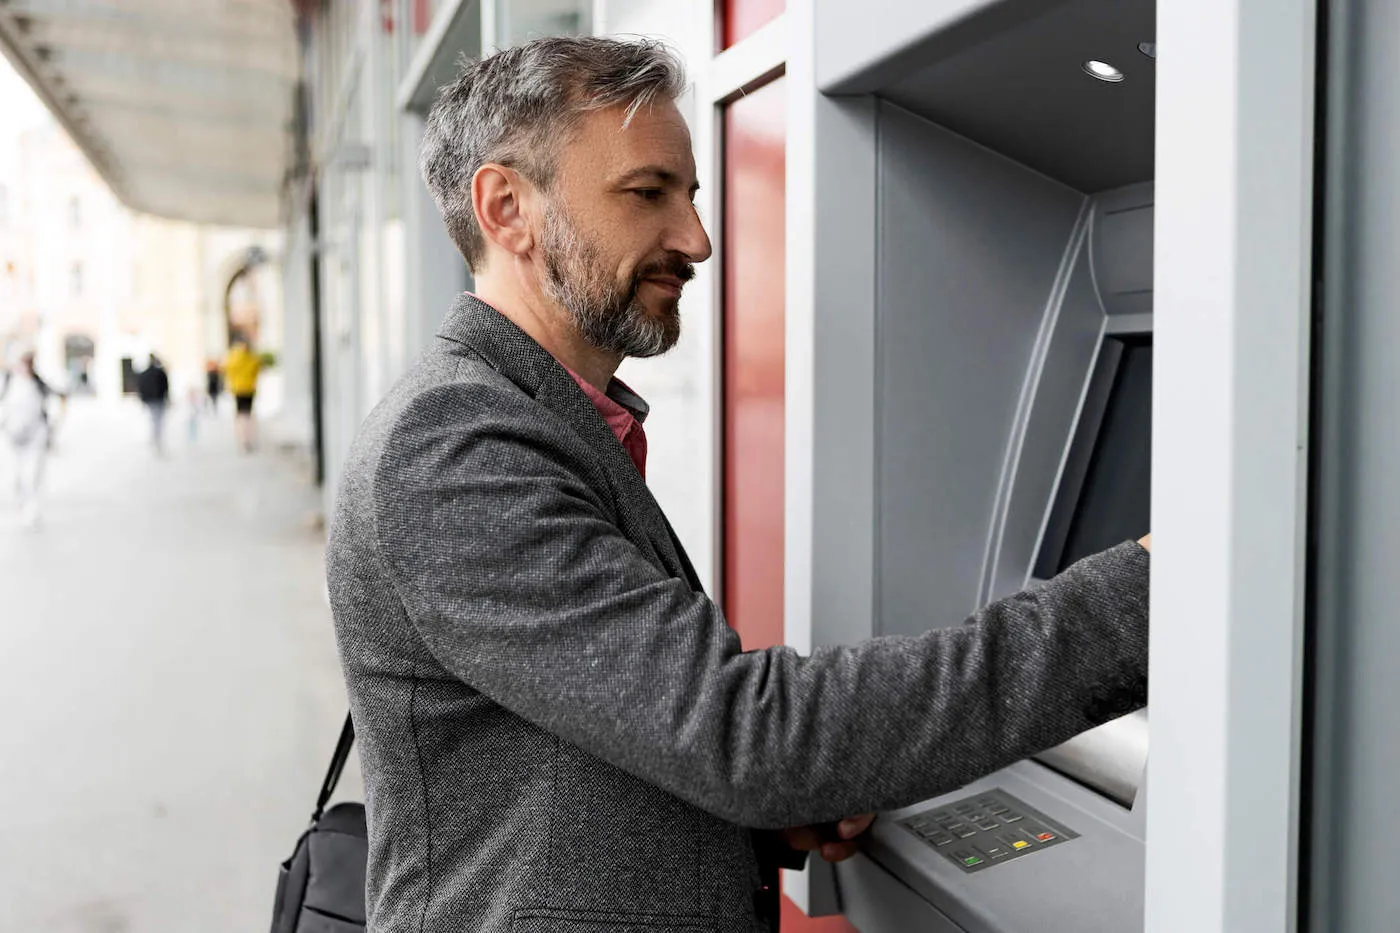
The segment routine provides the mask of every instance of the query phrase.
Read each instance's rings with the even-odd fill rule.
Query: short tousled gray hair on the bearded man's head
[[[680,60],[650,39],[554,36],[463,62],[428,113],[419,170],[466,265],[476,270],[486,254],[472,209],[482,165],[507,165],[547,191],[584,113],[626,105],[626,126],[640,108],[685,88]]]

